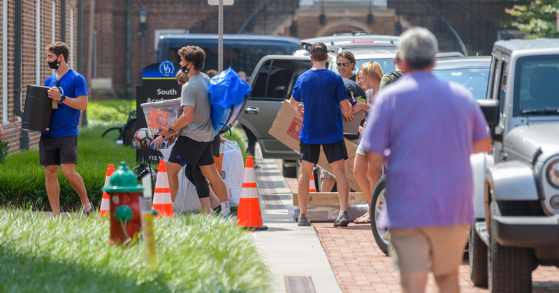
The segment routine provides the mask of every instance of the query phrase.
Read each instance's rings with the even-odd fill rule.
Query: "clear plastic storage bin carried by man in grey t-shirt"
[[[172,126],[182,114],[180,99],[143,103],[140,106],[145,115],[147,128],[149,128],[154,135],[161,133],[162,126],[164,128]]]

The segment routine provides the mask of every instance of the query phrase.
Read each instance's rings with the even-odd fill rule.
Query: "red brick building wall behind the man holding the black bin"
[[[3,20],[3,1],[6,1],[6,22]],[[15,3],[22,1],[22,47],[15,48]],[[53,15],[52,3],[55,3],[55,15]],[[70,59],[68,63],[77,66],[75,54],[78,46],[78,0],[66,0],[66,43],[70,46]],[[14,114],[14,52],[21,50],[22,53],[22,107],[25,105],[27,84],[43,85],[45,79],[52,75],[52,70],[46,63],[45,47],[52,43],[53,29],[52,20],[54,16],[55,31],[54,39],[61,38],[60,26],[60,0],[2,0],[0,1],[0,46],[6,46],[6,64],[0,58],[0,68],[6,66],[6,76],[0,70],[0,122],[4,130],[4,140],[8,142],[10,152],[20,151],[21,122],[20,117]],[[73,23],[71,15],[73,14]],[[6,25],[6,43],[3,42],[3,27]],[[73,27],[73,33],[71,33]],[[71,36],[73,35],[73,38]],[[38,66],[37,66],[38,65]],[[6,80],[6,93],[3,84]],[[4,100],[7,101],[7,111],[3,109]],[[40,134],[29,133],[30,149],[38,148]]]

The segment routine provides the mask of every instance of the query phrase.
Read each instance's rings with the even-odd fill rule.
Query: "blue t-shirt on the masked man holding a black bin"
[[[55,87],[57,84],[56,73],[45,80],[45,87]],[[67,98],[76,98],[87,95],[87,84],[85,78],[73,69],[60,78],[60,93]],[[50,136],[64,137],[78,135],[78,124],[80,123],[81,110],[74,109],[64,103],[58,104],[58,109],[52,109],[52,123],[50,126]],[[47,135],[46,133],[43,133]]]

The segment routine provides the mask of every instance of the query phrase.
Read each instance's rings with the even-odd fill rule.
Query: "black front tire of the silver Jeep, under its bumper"
[[[491,202],[490,220],[493,216],[511,216],[518,202]],[[532,292],[534,253],[527,248],[501,246],[496,232],[490,229],[488,250],[489,292]]]

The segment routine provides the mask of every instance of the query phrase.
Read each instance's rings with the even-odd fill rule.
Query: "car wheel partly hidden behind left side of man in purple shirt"
[[[383,214],[382,207],[386,204],[384,195],[386,194],[386,176],[383,176],[377,182],[375,190],[372,192],[371,207],[369,216],[371,219],[372,235],[375,236],[377,246],[385,255],[389,255],[390,232],[384,227],[378,227],[377,221]]]

